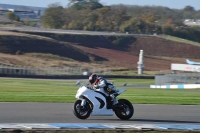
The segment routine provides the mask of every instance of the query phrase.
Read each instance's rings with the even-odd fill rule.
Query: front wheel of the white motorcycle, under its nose
[[[81,106],[81,100],[77,100],[74,103],[74,115],[79,119],[87,119],[90,116],[90,113],[92,112],[92,109],[90,108],[90,105],[88,102],[84,106]]]

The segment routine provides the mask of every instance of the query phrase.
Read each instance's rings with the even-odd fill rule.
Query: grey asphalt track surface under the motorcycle
[[[0,123],[200,124],[200,106],[136,104],[128,121],[114,116],[76,118],[73,103],[0,103]]]

